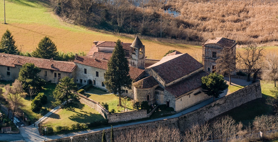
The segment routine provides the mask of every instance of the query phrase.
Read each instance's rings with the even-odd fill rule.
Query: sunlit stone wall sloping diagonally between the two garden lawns
[[[86,96],[84,96],[80,93],[77,93],[77,92],[74,92],[74,93],[79,96],[80,103],[88,105],[90,108],[93,108],[96,111],[98,111],[105,119],[108,119],[109,112],[108,112],[108,110],[103,108],[102,105],[100,105],[98,102],[95,102],[94,100],[92,100],[90,98],[87,98]]]

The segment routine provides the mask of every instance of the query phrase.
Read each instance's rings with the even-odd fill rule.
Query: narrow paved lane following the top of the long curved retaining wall
[[[225,80],[227,80],[227,84],[229,83],[228,77],[225,77]],[[234,79],[232,78],[232,85],[240,85],[240,86],[248,86],[249,84],[251,84],[251,82],[246,82],[246,80],[244,79]],[[225,95],[228,95],[227,93],[228,89],[225,90],[224,93],[222,93],[220,95],[219,98],[224,97]],[[219,99],[219,98],[216,98]],[[153,122],[153,121],[158,121],[158,120],[163,120],[163,119],[170,119],[170,118],[175,118],[175,117],[179,117],[181,115],[184,115],[186,113],[189,113],[191,111],[195,111],[205,105],[208,105],[210,103],[213,102],[213,98],[210,98],[208,100],[205,100],[197,105],[192,106],[191,108],[188,108],[184,111],[181,111],[175,115],[171,115],[168,117],[163,117],[163,118],[157,118],[157,119],[152,119],[152,120],[146,120],[146,121],[138,121],[138,122],[132,122],[132,123],[127,123],[127,124],[120,124],[120,125],[116,125],[113,127],[123,127],[123,126],[129,126],[129,125],[135,125],[135,124],[142,124],[142,123],[147,123],[147,122]],[[75,136],[75,135],[79,135],[79,134],[86,134],[86,133],[90,133],[90,132],[95,132],[95,131],[102,131],[103,129],[110,129],[111,127],[104,127],[104,128],[99,128],[99,129],[93,129],[93,130],[87,130],[87,131],[80,131],[80,132],[74,132],[74,133],[69,133],[69,134],[63,134],[63,135],[56,135],[56,136],[49,136],[49,137],[45,137],[45,136],[40,136],[39,135],[39,131],[37,130],[37,127],[34,128],[34,126],[28,126],[28,127],[20,127],[20,133],[22,134],[22,136],[24,137],[24,139],[26,141],[43,141],[45,140],[53,140],[53,139],[59,139],[59,138],[63,138],[63,137],[69,137],[69,136]]]

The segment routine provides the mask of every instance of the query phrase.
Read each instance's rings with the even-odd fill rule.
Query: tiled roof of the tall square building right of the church
[[[206,44],[218,44],[222,47],[231,48],[234,47],[237,43],[235,42],[235,40],[230,40],[224,37],[216,37],[214,40],[208,40],[207,42],[205,42],[204,45]]]

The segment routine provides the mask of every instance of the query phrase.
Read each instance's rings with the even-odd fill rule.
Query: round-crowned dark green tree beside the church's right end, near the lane
[[[210,73],[208,76],[202,77],[203,92],[209,96],[213,96],[213,101],[228,88],[226,83],[224,76],[217,73]]]

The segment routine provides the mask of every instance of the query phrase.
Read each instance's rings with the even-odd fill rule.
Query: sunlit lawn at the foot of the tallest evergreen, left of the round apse
[[[123,107],[119,107],[119,97],[116,95],[95,95],[95,94],[88,94],[84,93],[84,95],[87,95],[88,98],[94,100],[95,102],[99,102],[99,104],[107,103],[109,105],[109,111],[111,112],[112,109],[115,109],[116,113],[120,113],[124,110]],[[122,104],[123,105],[123,104]],[[130,110],[132,109],[132,101],[128,101],[127,108]]]

